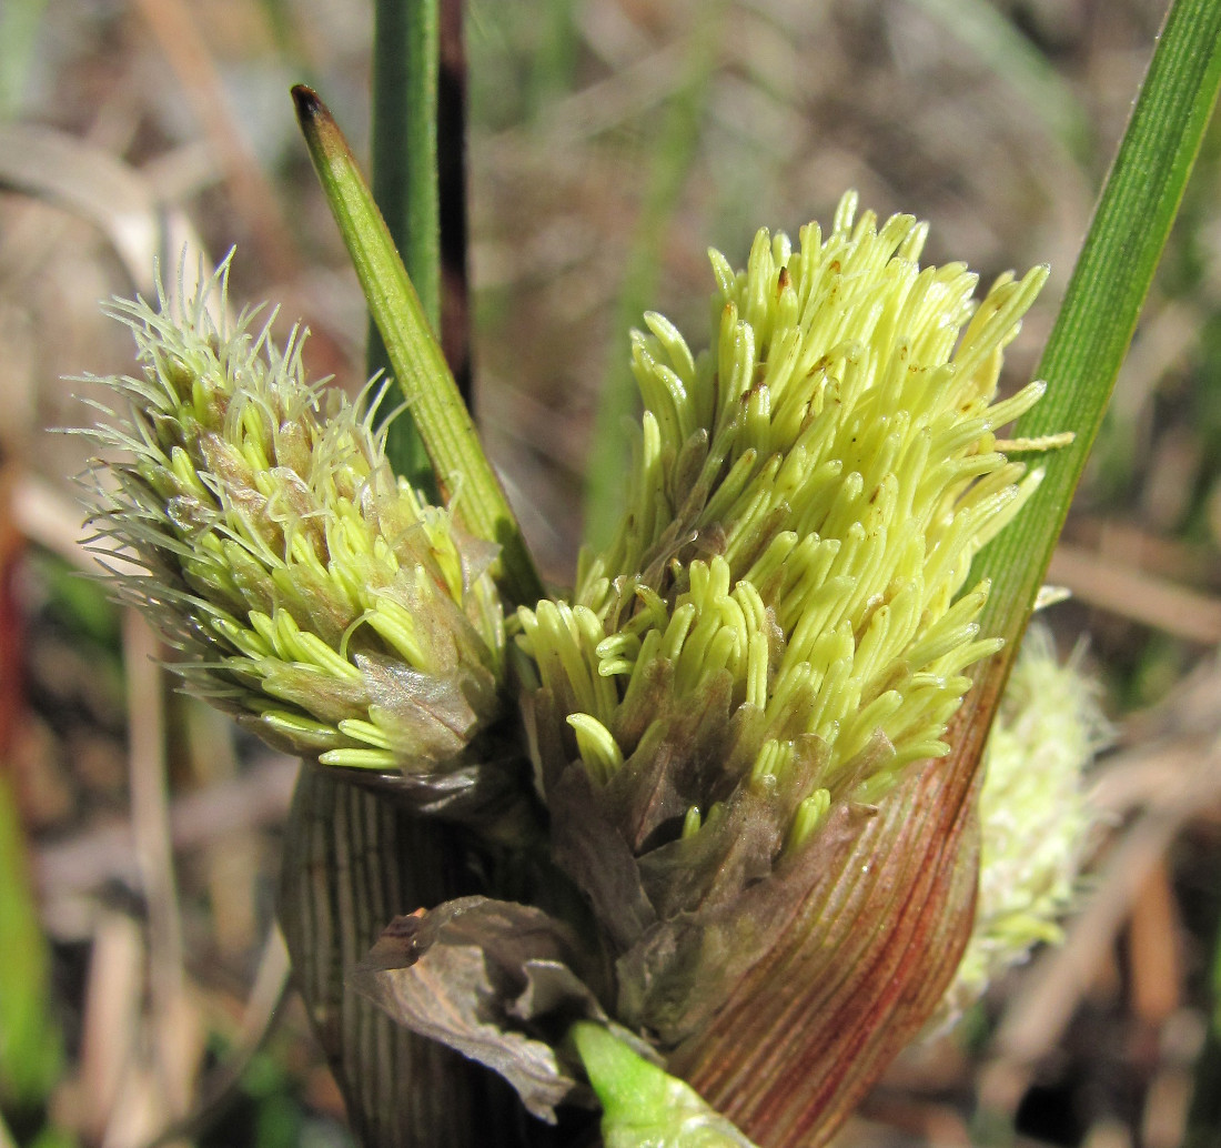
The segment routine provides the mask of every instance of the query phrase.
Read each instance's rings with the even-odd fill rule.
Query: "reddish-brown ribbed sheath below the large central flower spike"
[[[827,1143],[957,967],[978,876],[972,710],[951,757],[912,771],[838,838],[779,943],[670,1058],[763,1148]]]

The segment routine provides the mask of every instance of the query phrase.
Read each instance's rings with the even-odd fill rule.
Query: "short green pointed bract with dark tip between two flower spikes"
[[[501,547],[499,581],[505,596],[512,602],[532,603],[542,597],[542,580],[372,194],[317,94],[298,84],[293,99],[310,158],[386,341],[394,377],[427,447],[441,496],[468,530]]]

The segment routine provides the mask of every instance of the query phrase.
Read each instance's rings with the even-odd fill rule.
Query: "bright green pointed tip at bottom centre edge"
[[[571,1039],[602,1104],[604,1148],[755,1148],[690,1084],[601,1025],[581,1021]]]

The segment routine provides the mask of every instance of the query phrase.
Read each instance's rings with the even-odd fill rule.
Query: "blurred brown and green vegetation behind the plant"
[[[845,188],[984,281],[1050,263],[1028,377],[1165,0],[471,0],[476,410],[558,584],[618,496],[626,330],[706,338],[713,244]],[[131,369],[98,302],[188,238],[237,304],[363,380],[366,321],[291,83],[369,127],[368,0],[0,6],[0,1146],[347,1144],[272,932],[293,762],[173,691],[81,550],[92,418]],[[609,396],[606,402],[600,396]],[[1051,578],[1116,747],[1083,910],[847,1148],[1221,1142],[1221,126],[1214,123]],[[1031,827],[1038,833],[1040,827]],[[1193,1099],[1194,1098],[1194,1099]]]

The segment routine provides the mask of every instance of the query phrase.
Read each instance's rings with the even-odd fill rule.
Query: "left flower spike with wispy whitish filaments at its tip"
[[[139,377],[89,431],[95,547],[181,650],[176,668],[274,745],[336,766],[429,774],[501,714],[495,548],[397,480],[382,436],[310,386],[304,332],[227,311],[228,261],[194,298],[110,311]],[[203,277],[201,277],[203,278]],[[109,478],[107,478],[109,474]]]

